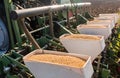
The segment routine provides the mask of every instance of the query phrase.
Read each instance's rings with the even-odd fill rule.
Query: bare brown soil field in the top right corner
[[[83,2],[87,1],[92,3],[87,11],[93,16],[99,13],[115,13],[120,7],[120,0],[84,0]]]

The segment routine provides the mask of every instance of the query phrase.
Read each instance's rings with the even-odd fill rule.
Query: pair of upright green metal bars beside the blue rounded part
[[[22,39],[20,36],[20,31],[18,27],[17,21],[10,19],[10,11],[14,10],[14,5],[11,0],[4,0],[5,5],[5,13],[6,13],[6,19],[7,19],[7,28],[9,32],[10,37],[10,48],[13,49],[14,47],[18,46],[21,48],[22,45]],[[15,43],[16,40],[16,43]]]

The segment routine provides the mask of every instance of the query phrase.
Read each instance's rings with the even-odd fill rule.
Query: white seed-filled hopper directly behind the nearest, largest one
[[[67,38],[75,36],[73,38]],[[80,39],[79,36],[85,36]],[[89,39],[89,37],[97,37],[98,40]],[[92,57],[92,61],[103,51],[105,47],[104,36],[86,35],[86,34],[64,34],[60,37],[60,41],[69,53],[85,54]]]

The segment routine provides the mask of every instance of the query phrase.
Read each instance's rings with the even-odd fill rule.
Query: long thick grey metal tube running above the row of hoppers
[[[91,5],[90,2],[74,4],[75,7],[90,6],[90,5]],[[59,10],[66,10],[68,8],[72,8],[72,5],[62,4],[62,5],[52,5],[52,6],[22,9],[22,10],[14,10],[10,13],[10,15],[11,15],[11,18],[15,20],[15,19],[24,18],[24,17],[37,16],[43,13],[48,13],[49,11],[54,12]]]

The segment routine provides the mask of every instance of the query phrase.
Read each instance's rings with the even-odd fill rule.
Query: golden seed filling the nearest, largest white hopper
[[[47,62],[70,67],[81,68],[85,64],[85,60],[74,56],[55,55],[55,54],[37,54],[32,55],[28,60],[37,62]]]

